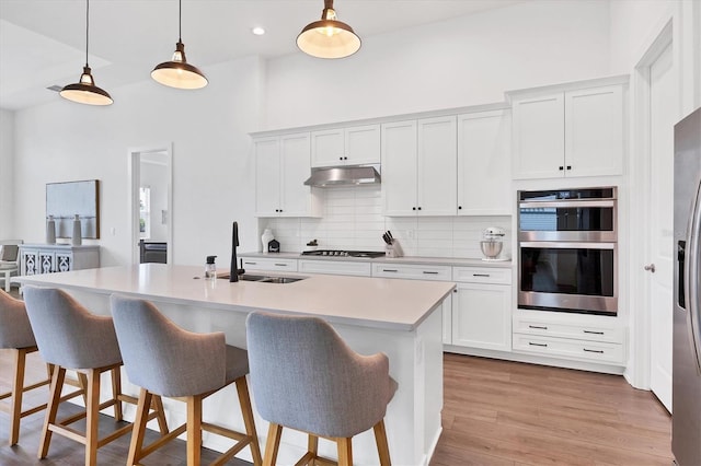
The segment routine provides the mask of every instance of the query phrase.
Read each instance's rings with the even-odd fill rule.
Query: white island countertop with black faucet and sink
[[[414,330],[455,288],[455,283],[446,281],[330,275],[309,275],[304,280],[284,284],[230,283],[205,280],[203,272],[202,267],[195,266],[142,264],[23,276],[16,281],[246,313],[257,310],[311,314],[331,323],[404,331]]]

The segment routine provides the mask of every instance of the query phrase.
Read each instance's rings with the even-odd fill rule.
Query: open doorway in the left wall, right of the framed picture
[[[131,264],[172,264],[172,144],[130,149],[129,179]]]

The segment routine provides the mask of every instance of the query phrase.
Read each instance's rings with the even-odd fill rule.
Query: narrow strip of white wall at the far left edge
[[[0,109],[0,240],[14,233],[14,113]]]

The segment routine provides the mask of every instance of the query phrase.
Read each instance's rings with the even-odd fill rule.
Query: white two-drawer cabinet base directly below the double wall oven
[[[601,364],[625,364],[625,331],[616,317],[519,310],[514,351]]]

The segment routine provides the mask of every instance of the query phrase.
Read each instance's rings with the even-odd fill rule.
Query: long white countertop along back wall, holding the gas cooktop
[[[347,256],[302,256],[300,253],[239,253],[239,257],[256,257],[256,258],[283,258],[283,259],[304,259],[304,260],[343,260],[343,261],[363,261],[363,263],[393,263],[393,264],[424,264],[435,266],[456,266],[456,267],[498,267],[512,268],[514,261],[508,260],[482,260],[468,259],[460,257],[347,257]]]

